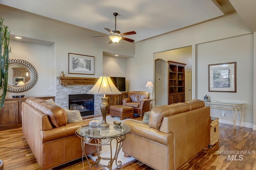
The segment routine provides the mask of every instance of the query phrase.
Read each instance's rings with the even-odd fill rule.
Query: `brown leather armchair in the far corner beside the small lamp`
[[[130,91],[128,92],[128,98],[124,98],[122,102],[124,106],[133,107],[134,113],[142,117],[146,111],[150,110],[150,101],[148,99],[148,92]]]

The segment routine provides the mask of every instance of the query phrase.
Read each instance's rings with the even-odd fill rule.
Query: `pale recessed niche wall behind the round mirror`
[[[49,62],[52,61],[52,47],[15,40],[10,40],[10,46],[12,47],[12,53],[9,54],[9,58],[24,59],[31,63],[38,72],[38,81],[32,89],[21,93],[7,92],[6,97],[16,95],[55,96],[52,90],[49,91],[50,86],[53,86],[52,81],[55,80],[55,78],[51,78],[52,75],[55,75],[55,68],[52,62]],[[11,74],[8,74],[8,76],[11,76]]]

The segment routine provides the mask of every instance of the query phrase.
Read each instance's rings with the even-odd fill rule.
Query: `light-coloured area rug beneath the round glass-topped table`
[[[96,118],[93,118],[93,119],[97,119],[97,120],[102,121],[102,117],[96,117]],[[122,123],[123,123],[125,120],[128,120],[128,119],[120,120],[119,117],[110,117],[110,115],[106,116],[106,122],[107,123],[113,124],[113,121],[116,121],[116,120],[122,121]],[[115,142],[115,140],[113,140],[113,141]],[[112,142],[112,147],[113,147],[112,148],[112,154],[116,150],[116,148],[114,148],[114,147],[116,147],[116,144],[114,142]],[[92,158],[92,160],[96,161],[97,156],[92,156],[92,154],[89,154],[88,156],[90,158]],[[103,157],[103,158],[104,157],[109,158],[110,157],[110,146],[102,146],[102,150],[100,151],[100,156]],[[124,152],[122,152],[122,149],[121,149],[119,154],[118,154],[117,161],[121,161],[122,165],[124,165],[124,164],[126,164],[126,163],[128,163],[128,162],[130,162],[134,159],[135,158],[133,158],[133,157],[129,157],[129,158],[124,157]],[[108,165],[108,162],[109,162],[108,160],[100,160],[100,164]],[[112,165],[112,170],[114,170],[116,168],[117,168],[117,166],[116,166],[115,161],[114,161],[114,163]],[[108,168],[105,168],[105,169],[108,170]]]

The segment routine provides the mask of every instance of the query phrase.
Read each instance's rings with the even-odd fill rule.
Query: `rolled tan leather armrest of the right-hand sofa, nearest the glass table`
[[[134,133],[135,135],[138,135],[140,137],[144,137],[146,139],[160,143],[162,145],[168,145],[170,142],[172,142],[172,138],[169,137],[172,136],[170,135],[170,133],[160,132],[157,129],[148,127],[148,124],[146,123],[134,120],[126,120],[124,121],[124,124],[130,126],[130,133]]]

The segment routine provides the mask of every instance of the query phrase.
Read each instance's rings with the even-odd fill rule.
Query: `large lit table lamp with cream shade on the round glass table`
[[[106,115],[108,113],[108,97],[106,94],[122,94],[114,85],[110,77],[100,76],[96,84],[92,87],[92,89],[87,94],[103,94],[103,98],[101,98],[102,102],[100,104],[100,111],[102,114],[102,123],[100,127],[109,127],[106,122]]]

